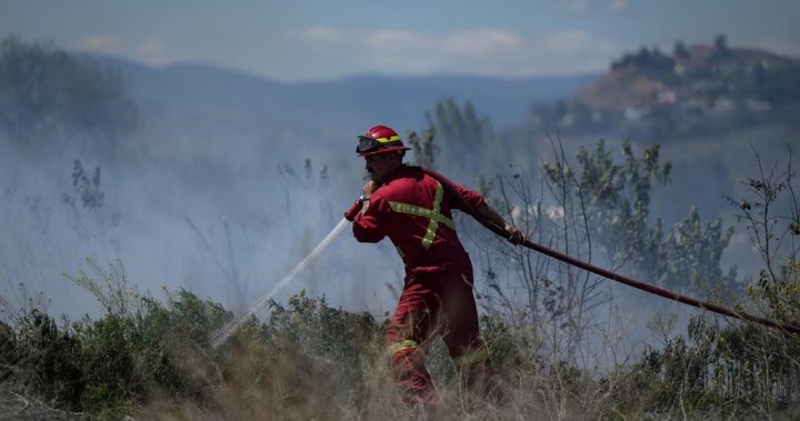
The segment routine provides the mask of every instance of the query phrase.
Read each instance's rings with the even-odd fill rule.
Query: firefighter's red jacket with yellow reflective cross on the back
[[[483,197],[450,183],[478,209]],[[348,214],[361,204],[353,203]],[[389,237],[398,249],[406,271],[436,270],[469,264],[467,252],[456,233],[451,209],[460,209],[450,200],[439,181],[420,168],[402,167],[377,189],[363,214],[357,213],[352,230],[360,242],[379,242]]]

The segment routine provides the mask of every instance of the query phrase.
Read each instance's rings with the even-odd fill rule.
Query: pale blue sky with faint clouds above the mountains
[[[720,33],[800,57],[798,17],[798,0],[0,0],[0,34],[282,81],[528,77],[602,71],[642,46]]]

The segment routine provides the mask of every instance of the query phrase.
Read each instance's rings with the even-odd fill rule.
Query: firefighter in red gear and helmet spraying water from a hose
[[[448,197],[442,182],[480,215],[504,227],[511,242],[519,243],[524,237],[480,193],[406,166],[402,158],[407,150],[410,148],[400,136],[386,126],[376,126],[358,137],[356,152],[364,158],[371,180],[346,212],[356,240],[379,242],[389,237],[406,267],[402,293],[386,332],[392,375],[407,402],[436,402],[420,348],[439,334],[460,379],[480,393],[497,393],[489,353],[479,337],[472,262],[452,220],[451,210],[461,209],[463,201]]]

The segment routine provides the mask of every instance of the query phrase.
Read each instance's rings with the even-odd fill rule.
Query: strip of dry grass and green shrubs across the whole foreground
[[[292,298],[287,308],[276,304],[269,320],[247,323],[229,342],[213,351],[210,345],[213,332],[198,327],[221,327],[227,321],[224,313],[216,304],[200,301],[190,293],[170,299],[168,305],[151,302],[149,307],[139,307],[143,313],[110,314],[102,320],[84,321],[97,329],[83,328],[80,334],[67,328],[53,330],[52,323],[41,324],[50,329],[47,341],[19,340],[22,333],[26,338],[41,337],[30,330],[31,323],[20,324],[29,330],[26,332],[20,331],[20,325],[9,327],[0,338],[4,364],[0,365],[0,418],[662,420],[791,419],[797,415],[787,403],[757,397],[752,393],[754,389],[744,390],[749,394],[733,401],[726,398],[723,383],[708,380],[698,383],[697,379],[709,378],[692,368],[719,360],[709,357],[712,353],[702,354],[697,350],[719,349],[718,342],[696,340],[686,348],[673,347],[671,353],[664,349],[623,355],[618,341],[594,338],[592,343],[600,344],[593,348],[582,344],[582,354],[599,359],[604,352],[614,352],[619,358],[618,363],[598,368],[590,363],[561,362],[559,355],[563,353],[553,348],[558,344],[540,337],[546,324],[539,329],[522,325],[514,330],[497,320],[483,321],[483,334],[502,379],[504,399],[488,401],[464,390],[453,375],[444,347],[433,341],[426,359],[440,401],[430,408],[409,408],[391,381],[383,325],[364,314],[333,309],[323,300],[301,294]],[[127,322],[120,322],[120,318]],[[111,323],[114,320],[116,324]],[[759,332],[732,328],[726,334],[761,338]],[[129,340],[120,342],[119,338]],[[131,338],[139,338],[139,342]],[[81,370],[80,380],[86,384],[78,398],[70,398],[77,401],[63,401],[66,394],[48,385],[42,371],[38,371],[41,368],[30,363],[31,355],[40,355],[38,351],[44,349],[58,357],[59,352],[66,352],[59,347],[74,341],[82,345],[70,349],[69,355],[77,360],[76,369]],[[779,342],[753,343],[766,347]],[[9,353],[10,344],[17,347],[14,352]],[[98,354],[97,347],[117,347],[117,352]],[[119,358],[126,353],[132,358]],[[769,355],[780,357],[774,352]],[[63,358],[41,361],[63,361]],[[779,378],[770,381],[780,380],[791,388],[787,375],[798,372],[798,360],[787,354],[781,361],[789,364],[788,368],[771,373]],[[736,360],[723,362],[730,369],[740,367]],[[87,363],[111,364],[113,370],[92,370]],[[130,384],[113,383],[119,381],[118,377],[103,377],[126,370],[130,371],[124,378],[132,380]],[[759,388],[759,379],[753,378],[748,384]],[[71,384],[64,383],[68,379],[50,381],[57,385]]]

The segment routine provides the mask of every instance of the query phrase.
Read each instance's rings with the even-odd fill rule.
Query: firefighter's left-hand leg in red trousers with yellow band
[[[430,291],[421,284],[407,282],[387,328],[392,377],[408,403],[437,400],[421,349],[430,334],[431,313],[436,311],[436,300],[430,299]]]

